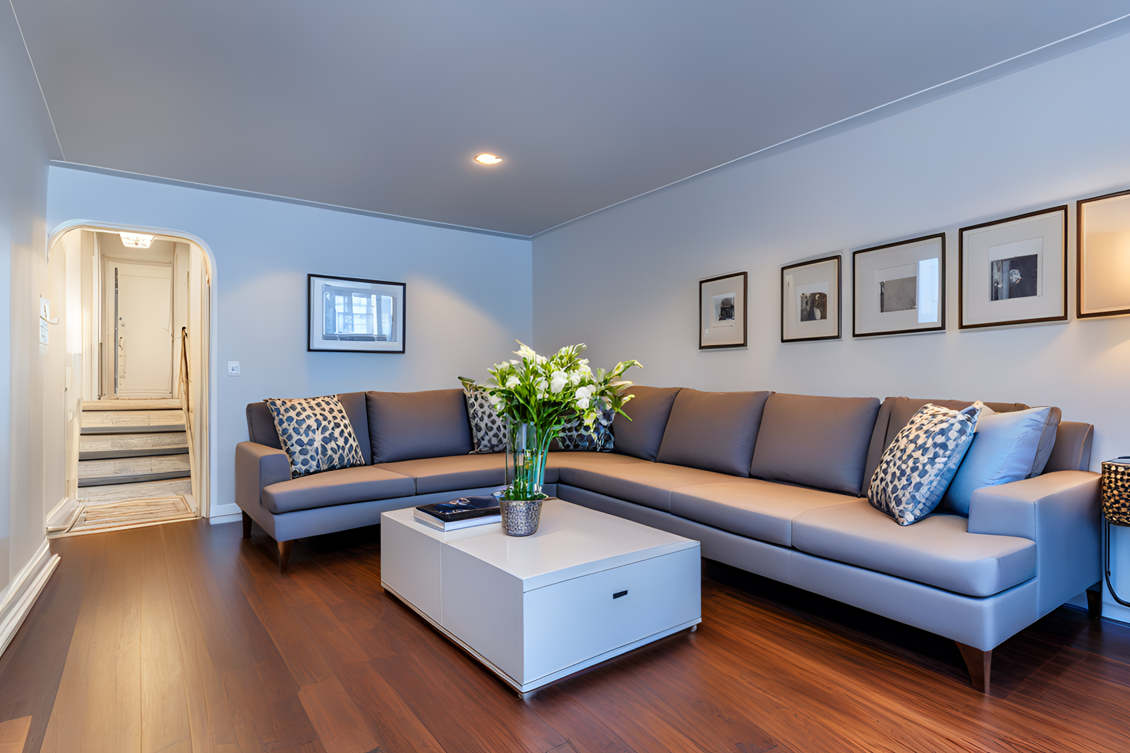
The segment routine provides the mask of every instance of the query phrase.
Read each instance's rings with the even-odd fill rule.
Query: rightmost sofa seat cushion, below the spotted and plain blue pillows
[[[899,526],[858,500],[810,510],[792,522],[792,545],[845,564],[968,596],[991,596],[1036,575],[1036,544],[968,533],[957,515]]]

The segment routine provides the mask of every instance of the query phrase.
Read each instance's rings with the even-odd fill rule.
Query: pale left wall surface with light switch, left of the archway
[[[46,294],[44,217],[53,135],[9,6],[0,7],[0,587],[44,541],[44,478],[62,447],[44,443],[38,301]],[[53,145],[52,145],[53,146]],[[61,379],[61,377],[60,377]],[[62,397],[59,396],[61,409]],[[52,418],[58,419],[58,415]],[[61,479],[60,479],[61,485]],[[0,592],[2,595],[3,592]]]

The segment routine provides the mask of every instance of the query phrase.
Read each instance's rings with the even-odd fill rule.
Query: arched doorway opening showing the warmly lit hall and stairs
[[[49,535],[208,516],[214,270],[208,246],[175,230],[76,220],[51,234],[66,496]]]

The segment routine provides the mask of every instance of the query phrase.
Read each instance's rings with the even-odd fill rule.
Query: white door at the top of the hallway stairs
[[[173,268],[112,262],[119,397],[173,396]]]

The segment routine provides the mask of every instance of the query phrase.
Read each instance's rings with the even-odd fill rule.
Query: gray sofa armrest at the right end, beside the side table
[[[1041,616],[1102,578],[1098,481],[1089,471],[1054,471],[973,492],[970,533],[1036,542]]]

